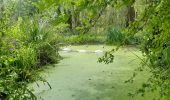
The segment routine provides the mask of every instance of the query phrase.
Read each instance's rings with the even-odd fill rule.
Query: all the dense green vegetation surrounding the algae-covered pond
[[[168,0],[0,0],[0,98],[36,99],[27,85],[44,81],[37,72],[58,63],[60,43],[139,45],[139,69],[152,75],[135,94],[170,98],[169,7]],[[110,53],[100,61],[112,62]]]

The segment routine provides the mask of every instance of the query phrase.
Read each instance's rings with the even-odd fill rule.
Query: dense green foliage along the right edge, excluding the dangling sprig
[[[170,96],[169,7],[168,0],[148,1],[144,12],[128,30],[129,35],[135,35],[138,31],[144,33],[140,50],[152,75],[143,90],[158,90],[160,96],[165,98]]]

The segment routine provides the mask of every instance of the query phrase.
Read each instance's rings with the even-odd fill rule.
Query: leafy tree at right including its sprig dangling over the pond
[[[138,0],[116,0],[115,5],[122,7],[126,5],[128,10],[128,21],[131,23],[125,29],[128,37],[141,34],[140,50],[144,55],[143,66],[150,69],[151,76],[148,81],[137,90],[135,94],[142,94],[146,91],[159,91],[160,98],[170,98],[170,1],[169,0],[146,0],[144,7],[134,20],[134,8],[131,8]],[[124,45],[125,43],[122,43]],[[99,62],[110,63],[113,60],[114,50],[107,52]],[[112,60],[110,60],[112,59]],[[134,75],[135,76],[135,75]],[[133,79],[133,78],[131,78]],[[135,95],[134,94],[134,95]]]

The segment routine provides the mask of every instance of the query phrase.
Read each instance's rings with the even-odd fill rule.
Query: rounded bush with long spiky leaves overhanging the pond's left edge
[[[60,60],[58,53],[58,40],[57,35],[46,28],[46,25],[39,25],[39,23],[30,23],[30,28],[26,29],[29,33],[25,43],[26,45],[32,44],[37,52],[38,65],[54,64]]]

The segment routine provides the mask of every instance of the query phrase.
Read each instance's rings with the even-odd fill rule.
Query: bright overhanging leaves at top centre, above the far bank
[[[106,7],[113,3],[114,1],[110,0],[43,0],[42,2],[35,2],[34,5],[40,9],[40,12],[52,10],[53,7],[56,7],[56,16],[52,20],[54,25],[64,23],[69,25],[67,29],[73,34],[86,34],[96,26]],[[43,6],[43,4],[46,6]]]

